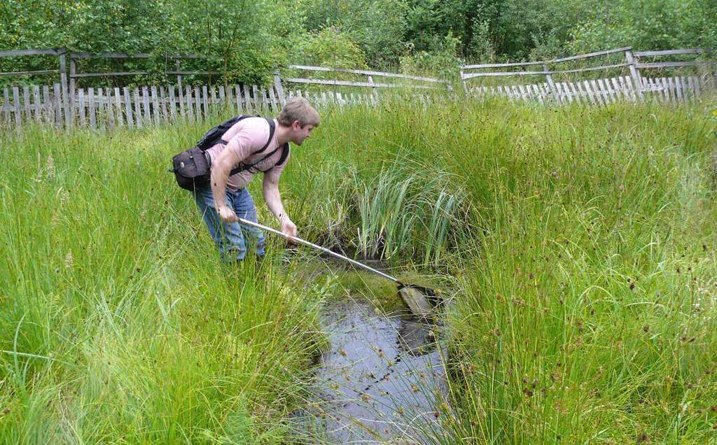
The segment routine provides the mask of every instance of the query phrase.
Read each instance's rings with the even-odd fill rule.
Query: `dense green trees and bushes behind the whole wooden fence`
[[[174,61],[164,54],[201,54],[181,61],[181,70],[218,71],[228,82],[268,82],[276,67],[306,61],[446,76],[459,60],[515,62],[625,46],[715,48],[716,22],[716,0],[7,0],[0,4],[0,48],[155,55],[83,60],[85,72],[151,74],[80,85],[168,81],[163,72]],[[2,71],[56,68],[54,57],[0,59]],[[48,79],[57,81],[19,82]]]

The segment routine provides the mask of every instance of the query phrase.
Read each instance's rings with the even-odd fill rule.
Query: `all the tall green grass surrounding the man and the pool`
[[[710,443],[713,109],[333,107],[282,198],[300,236],[453,302],[455,443]],[[274,238],[259,269],[220,265],[166,173],[203,130],[2,141],[0,441],[291,443],[321,302],[397,304]]]

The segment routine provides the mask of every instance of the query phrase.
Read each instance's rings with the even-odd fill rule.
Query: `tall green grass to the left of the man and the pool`
[[[219,264],[166,173],[169,133],[4,143],[0,442],[285,434],[320,296]]]

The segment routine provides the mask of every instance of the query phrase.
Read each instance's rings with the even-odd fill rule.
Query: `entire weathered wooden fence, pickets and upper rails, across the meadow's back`
[[[141,75],[141,72],[87,73],[77,71],[77,61],[88,57],[138,58],[148,54],[66,54],[63,50],[39,49],[0,52],[0,57],[18,55],[55,55],[59,70],[39,72],[9,72],[0,75],[59,74],[60,82],[52,85],[14,86],[4,88],[0,107],[0,130],[20,131],[23,123],[36,121],[51,123],[57,128],[71,130],[76,127],[93,130],[114,128],[143,128],[148,125],[174,122],[177,120],[196,121],[214,116],[233,113],[277,114],[280,108],[293,97],[306,97],[315,107],[330,105],[369,105],[379,103],[384,93],[379,90],[404,89],[407,99],[427,106],[435,100],[464,100],[465,97],[508,97],[509,100],[536,102],[541,105],[571,102],[586,105],[607,105],[617,101],[641,102],[684,102],[694,100],[708,90],[717,89],[717,75],[713,72],[714,61],[693,60],[682,62],[654,62],[649,58],[673,57],[685,54],[700,54],[701,49],[673,49],[666,51],[632,52],[631,47],[609,49],[580,54],[577,56],[538,62],[514,62],[505,64],[475,64],[460,67],[462,90],[454,91],[450,82],[430,77],[417,77],[390,72],[370,70],[346,70],[339,68],[292,65],[293,72],[333,72],[343,80],[315,77],[280,77],[276,72],[274,84],[267,87],[257,85],[204,85],[182,86],[183,76],[217,74],[214,72],[184,72],[179,69],[167,74],[176,75],[175,85],[146,87],[77,88],[77,81],[83,77]],[[70,59],[69,74],[65,57]],[[596,57],[621,57],[617,64],[599,64],[591,67],[560,68]],[[180,56],[176,56],[180,57]],[[198,57],[187,55],[181,57]],[[647,61],[645,61],[647,59]],[[614,62],[614,60],[613,60]],[[527,67],[527,68],[526,68]],[[649,77],[653,70],[690,67],[698,75]],[[537,69],[536,69],[537,68]],[[490,70],[490,72],[485,72]],[[517,70],[517,71],[516,71]],[[554,76],[564,76],[595,70],[627,70],[630,75],[598,78],[592,80],[571,80],[556,82]],[[623,71],[624,72],[624,71]],[[359,81],[346,80],[346,76],[359,77]],[[364,79],[365,77],[365,79]],[[378,77],[382,80],[374,81]],[[544,77],[545,82],[513,82],[508,85],[469,85],[472,79],[495,79],[497,77]],[[493,82],[495,83],[495,82]],[[290,85],[316,85],[307,90],[292,90]],[[490,85],[490,82],[489,82]],[[343,90],[341,90],[343,88]],[[336,90],[336,91],[333,91]],[[343,91],[338,92],[338,90]],[[350,92],[347,92],[350,91]]]

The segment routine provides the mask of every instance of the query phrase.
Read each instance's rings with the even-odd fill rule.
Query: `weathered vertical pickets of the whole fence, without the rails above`
[[[617,101],[685,102],[695,100],[705,90],[714,89],[713,79],[698,76],[642,78],[638,92],[629,76],[576,82],[548,82],[473,87],[467,93],[473,97],[507,97],[509,100],[533,101],[541,105],[579,102],[587,105],[607,105]],[[60,83],[11,87],[4,89],[1,107],[1,128],[20,130],[24,122],[52,123],[57,128],[85,127],[93,130],[114,128],[143,128],[148,125],[196,121],[213,113],[270,113],[277,114],[285,100],[305,97],[322,108],[330,105],[369,105],[381,100],[376,92],[344,93],[288,90],[280,96],[275,87],[230,85],[184,87],[176,85],[151,87],[115,87],[77,89],[72,104],[65,107]],[[460,96],[450,92],[414,92],[419,105],[434,100],[449,100]],[[69,111],[69,113],[68,113]]]

